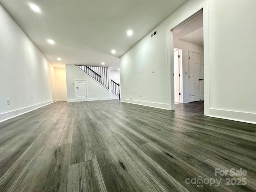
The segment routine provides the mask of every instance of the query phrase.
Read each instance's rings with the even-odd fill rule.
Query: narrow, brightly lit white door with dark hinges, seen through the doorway
[[[180,51],[174,50],[174,102],[180,103]]]

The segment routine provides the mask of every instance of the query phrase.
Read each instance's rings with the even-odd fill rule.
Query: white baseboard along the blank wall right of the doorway
[[[238,112],[238,111],[220,110],[220,109],[209,109],[208,116],[256,124],[256,113]]]

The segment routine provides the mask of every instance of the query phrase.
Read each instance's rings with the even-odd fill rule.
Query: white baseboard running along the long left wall
[[[30,111],[36,110],[40,107],[49,105],[49,104],[54,103],[54,102],[56,102],[56,100],[51,100],[51,101],[35,104],[35,105],[32,105],[32,106],[24,107],[24,108],[21,108],[21,109],[16,109],[16,110],[13,110],[13,111],[9,111],[9,112],[6,112],[6,113],[2,113],[2,114],[0,114],[0,122],[6,121],[10,118],[14,118],[14,117],[22,115],[24,113],[28,113]]]

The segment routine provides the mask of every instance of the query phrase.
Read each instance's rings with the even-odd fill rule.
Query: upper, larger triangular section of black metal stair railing
[[[95,66],[84,66],[76,65],[86,74],[90,75],[96,81],[104,85],[106,88],[109,88],[108,85],[108,68],[107,67],[95,67]]]

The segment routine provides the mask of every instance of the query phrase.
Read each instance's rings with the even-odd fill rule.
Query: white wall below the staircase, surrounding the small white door
[[[109,90],[105,88],[102,84],[92,79],[89,75],[87,75],[85,72],[83,72],[76,66],[66,64],[66,84],[68,102],[76,101],[75,80],[87,80],[88,101],[111,99],[111,92],[109,92]]]

